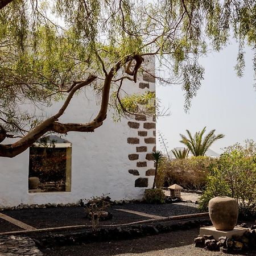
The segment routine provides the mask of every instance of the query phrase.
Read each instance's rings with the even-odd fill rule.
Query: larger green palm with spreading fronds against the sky
[[[188,138],[185,137],[185,135],[180,134],[180,142],[185,144],[194,156],[205,155],[205,152],[208,150],[208,148],[212,145],[214,141],[217,141],[217,139],[224,138],[224,134],[214,135],[215,130],[211,130],[207,135],[205,135],[203,139],[205,129],[206,127],[204,127],[203,130],[196,132],[194,137],[192,137],[189,130],[186,130]]]

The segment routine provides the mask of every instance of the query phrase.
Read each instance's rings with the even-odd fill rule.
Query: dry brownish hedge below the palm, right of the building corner
[[[207,156],[192,156],[191,158],[163,160],[159,165],[156,184],[179,184],[184,189],[202,190],[207,184],[209,167],[217,159]]]

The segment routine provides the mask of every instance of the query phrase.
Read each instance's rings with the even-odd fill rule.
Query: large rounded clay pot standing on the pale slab
[[[228,196],[214,197],[209,201],[209,215],[217,230],[233,230],[238,218],[237,201]]]

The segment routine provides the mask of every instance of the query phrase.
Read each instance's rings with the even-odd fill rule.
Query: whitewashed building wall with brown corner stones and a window
[[[144,74],[141,82],[134,84],[127,81],[124,89],[129,93],[154,91],[155,81]],[[58,102],[47,109],[47,113],[55,113],[60,105]],[[60,121],[88,122],[96,116],[99,108],[93,91],[86,88],[73,97]],[[145,183],[148,179],[147,186],[152,186],[154,162],[146,160],[146,156],[155,146],[153,119],[147,117],[147,121],[122,119],[121,122],[113,122],[110,110],[104,124],[94,133],[68,133],[64,139],[72,143],[71,192],[28,193],[29,150],[12,159],[0,158],[0,205],[77,203],[80,199],[101,196],[102,193],[109,193],[112,200],[142,199],[147,187],[135,187],[135,181]],[[128,122],[139,123],[139,128],[129,127]],[[149,126],[152,127],[144,128],[145,122],[151,123]],[[139,136],[138,131],[146,131],[147,135]],[[138,138],[139,144],[127,143],[128,138]],[[151,142],[146,143],[145,138],[151,138]],[[137,152],[137,147],[141,146],[146,146],[147,150]],[[130,160],[129,154],[138,154],[139,158]],[[138,162],[146,162],[147,166],[138,167]],[[137,170],[138,173],[134,175],[129,170]]]

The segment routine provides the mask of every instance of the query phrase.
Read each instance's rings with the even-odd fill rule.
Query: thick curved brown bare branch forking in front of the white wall
[[[82,87],[89,85],[94,80],[97,79],[96,76],[90,75],[85,81],[81,81],[79,83],[73,83],[71,89],[69,90],[68,97],[63,103],[63,106],[60,108],[59,112],[52,117],[47,118],[45,121],[40,123],[36,126],[33,130],[29,131],[24,137],[19,139],[17,142],[13,144],[0,144],[0,156],[5,156],[9,158],[13,158],[14,156],[20,154],[28,147],[30,147],[37,139],[42,137],[47,132],[51,131],[54,133],[66,134],[69,131],[80,131],[80,132],[93,132],[94,129],[100,127],[103,121],[106,119],[106,113],[108,111],[109,105],[109,93],[110,93],[110,86],[112,84],[113,77],[116,75],[118,70],[127,62],[131,60],[135,60],[136,64],[133,70],[133,80],[136,82],[137,80],[137,73],[139,67],[141,67],[143,57],[140,55],[128,55],[125,56],[122,60],[118,61],[110,69],[109,73],[105,77],[104,86],[102,89],[102,100],[101,100],[101,108],[98,112],[97,117],[89,123],[60,123],[58,122],[58,118],[64,114],[65,110],[67,109],[69,103],[75,92],[81,89]]]

